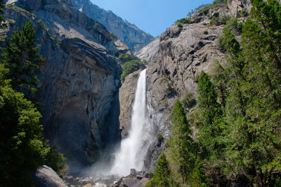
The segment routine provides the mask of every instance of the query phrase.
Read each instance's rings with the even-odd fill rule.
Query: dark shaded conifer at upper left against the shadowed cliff
[[[35,32],[32,22],[22,25],[22,30],[13,32],[4,49],[2,63],[9,69],[8,79],[11,79],[13,89],[27,89],[30,92],[37,90],[38,78],[34,74],[39,68],[39,63],[44,59],[38,54],[35,46]]]

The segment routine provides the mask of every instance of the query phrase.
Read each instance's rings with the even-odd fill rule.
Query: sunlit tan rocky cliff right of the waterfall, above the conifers
[[[211,18],[207,14],[237,16],[240,8],[249,10],[249,2],[243,2],[228,1],[228,5],[197,13],[194,16],[196,23],[183,27],[173,25],[159,37],[159,51],[148,64],[147,89],[150,101],[148,106],[155,114],[149,116],[150,121],[154,122],[157,132],[164,139],[170,134],[169,113],[176,99],[183,99],[188,92],[196,97],[196,80],[201,71],[209,72],[215,60],[226,62],[224,54],[217,47],[224,25],[208,27]],[[152,172],[155,169],[157,158],[164,147],[164,141],[159,138],[150,144],[145,156],[145,171]]]

